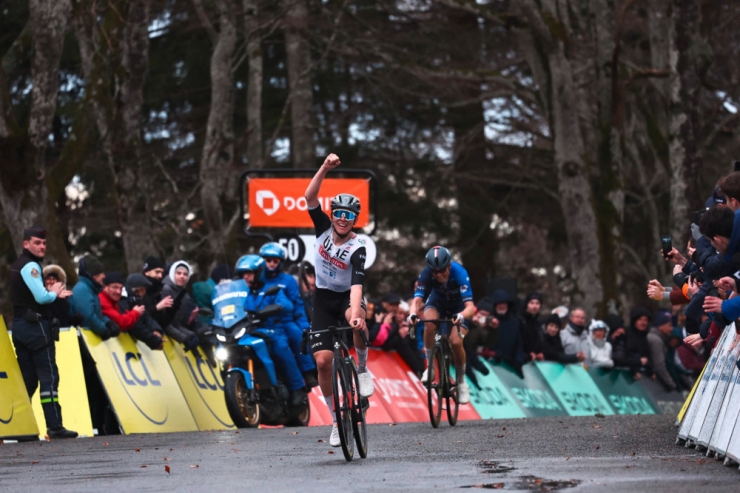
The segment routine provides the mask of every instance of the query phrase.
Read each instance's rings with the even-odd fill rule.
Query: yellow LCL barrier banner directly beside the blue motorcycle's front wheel
[[[224,383],[219,369],[213,368],[201,356],[194,356],[192,351],[185,351],[181,344],[172,341],[165,341],[164,354],[188,401],[198,429],[205,431],[236,428],[226,410]]]

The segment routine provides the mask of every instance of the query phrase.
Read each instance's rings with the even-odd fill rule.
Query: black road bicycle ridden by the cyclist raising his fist
[[[330,333],[334,358],[331,362],[331,386],[334,393],[334,412],[337,416],[339,440],[342,452],[347,461],[354,456],[355,443],[361,458],[367,457],[367,429],[365,412],[370,407],[366,397],[360,396],[360,380],[357,376],[355,359],[349,354],[349,348],[344,342],[341,332],[354,330],[352,327],[328,327],[325,330],[315,330],[303,333],[303,350],[306,351],[310,334]],[[360,336],[367,347],[370,344],[363,331]],[[354,435],[354,442],[352,440]]]

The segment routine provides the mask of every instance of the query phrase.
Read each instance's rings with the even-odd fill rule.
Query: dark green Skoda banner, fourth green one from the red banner
[[[660,408],[628,370],[589,368],[588,374],[614,414],[660,414]]]

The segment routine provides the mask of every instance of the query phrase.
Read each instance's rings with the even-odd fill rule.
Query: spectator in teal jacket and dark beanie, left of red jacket
[[[108,340],[120,334],[120,328],[103,315],[98,295],[103,290],[105,268],[94,255],[85,255],[79,261],[79,281],[72,289],[72,308],[82,315],[82,326],[95,332],[101,339]]]

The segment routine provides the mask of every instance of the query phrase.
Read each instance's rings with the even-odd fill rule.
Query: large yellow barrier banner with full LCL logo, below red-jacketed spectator
[[[167,357],[127,333],[103,341],[82,330],[125,434],[198,431]]]

